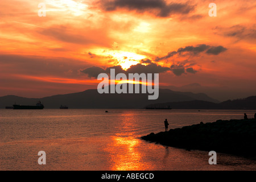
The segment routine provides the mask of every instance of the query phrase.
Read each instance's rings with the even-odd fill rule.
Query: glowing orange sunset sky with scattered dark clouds
[[[255,0],[1,0],[0,96],[97,89],[112,67],[256,95],[255,20]]]

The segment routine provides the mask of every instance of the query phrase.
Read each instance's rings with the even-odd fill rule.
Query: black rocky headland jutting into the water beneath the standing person
[[[216,151],[256,159],[256,119],[201,122],[141,138],[164,146]]]

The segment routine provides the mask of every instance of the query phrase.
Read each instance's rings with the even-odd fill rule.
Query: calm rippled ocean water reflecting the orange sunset
[[[0,170],[255,170],[256,161],[186,151],[139,139],[151,132],[217,119],[252,118],[255,110],[0,110]],[[214,150],[214,148],[212,149]],[[38,152],[46,152],[46,165]]]

